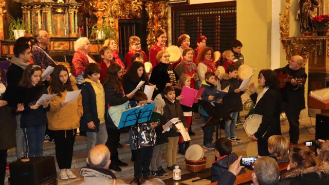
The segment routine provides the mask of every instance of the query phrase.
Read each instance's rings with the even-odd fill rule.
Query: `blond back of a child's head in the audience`
[[[268,152],[278,159],[283,159],[289,154],[289,140],[281,135],[270,136],[267,140]]]

